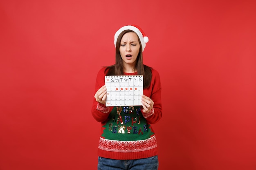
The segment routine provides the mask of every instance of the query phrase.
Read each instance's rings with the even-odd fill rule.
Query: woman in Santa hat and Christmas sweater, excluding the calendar
[[[138,26],[115,33],[116,63],[103,67],[96,79],[92,115],[101,122],[98,170],[157,170],[157,142],[150,124],[162,117],[159,73],[143,64],[148,42]],[[105,75],[143,75],[141,106],[107,107]]]

